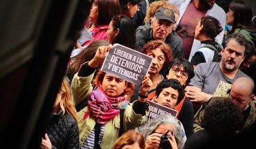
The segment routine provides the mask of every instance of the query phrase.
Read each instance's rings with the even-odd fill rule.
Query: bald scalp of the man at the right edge
[[[247,90],[252,94],[254,91],[254,81],[246,77],[237,78],[231,88],[241,91]]]

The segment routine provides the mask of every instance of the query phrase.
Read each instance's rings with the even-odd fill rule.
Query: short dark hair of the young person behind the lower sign
[[[179,96],[178,96],[176,105],[179,104],[184,97],[184,89],[180,84],[180,82],[177,81],[176,79],[163,79],[161,82],[159,82],[157,84],[157,87],[155,88],[155,95],[158,97],[159,94],[162,92],[163,88],[168,88],[168,87],[178,90]]]

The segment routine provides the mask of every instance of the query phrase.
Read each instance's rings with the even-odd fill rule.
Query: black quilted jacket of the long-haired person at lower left
[[[46,127],[52,148],[79,148],[79,130],[76,119],[71,114],[60,110],[52,114]]]

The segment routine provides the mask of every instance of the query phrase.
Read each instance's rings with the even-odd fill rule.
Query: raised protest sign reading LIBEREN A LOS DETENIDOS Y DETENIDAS
[[[114,44],[108,51],[101,71],[140,85],[151,67],[153,58],[121,44]]]

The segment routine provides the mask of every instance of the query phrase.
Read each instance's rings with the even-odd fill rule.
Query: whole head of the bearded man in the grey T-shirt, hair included
[[[236,71],[244,60],[248,44],[243,35],[237,33],[230,35],[221,50],[222,70],[227,72]]]

